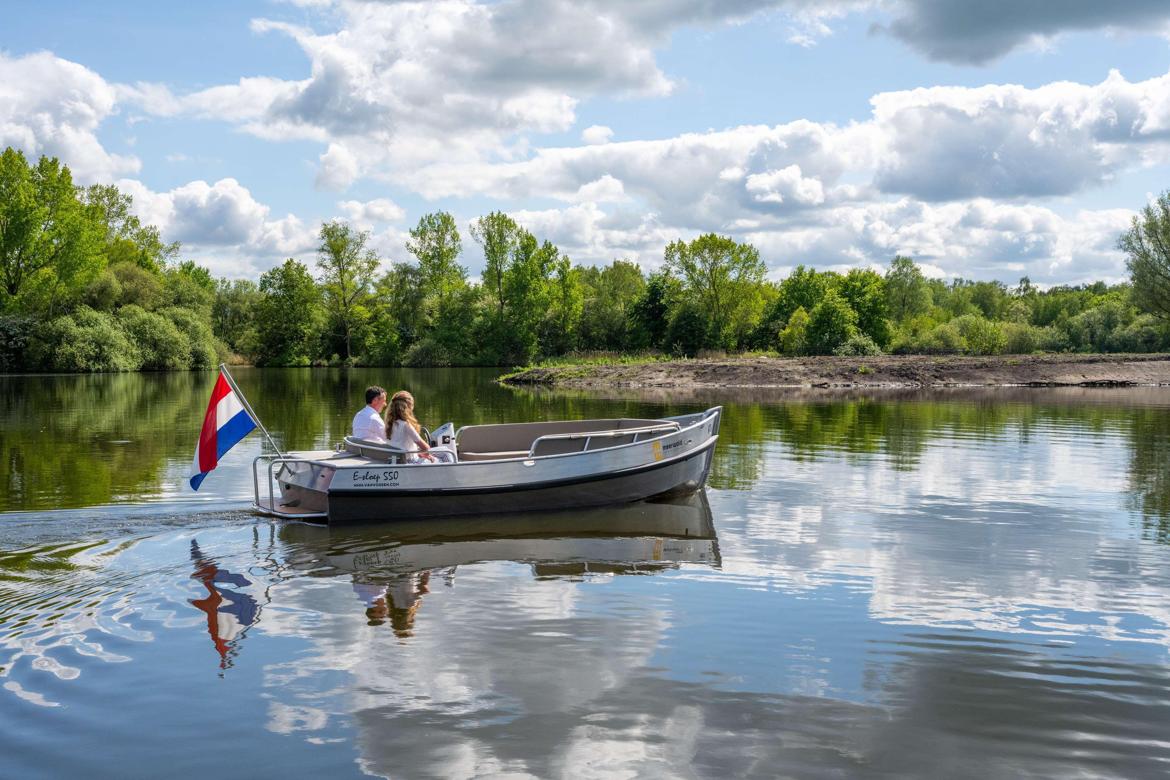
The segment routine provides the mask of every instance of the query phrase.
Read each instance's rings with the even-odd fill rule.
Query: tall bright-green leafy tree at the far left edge
[[[63,294],[81,295],[102,272],[102,230],[77,199],[73,174],[56,158],[28,165],[0,153],[0,284],[6,308],[48,311]]]

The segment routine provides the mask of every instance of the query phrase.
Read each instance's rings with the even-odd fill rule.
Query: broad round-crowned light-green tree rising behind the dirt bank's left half
[[[666,267],[682,278],[686,291],[700,302],[711,318],[715,339],[723,346],[732,333],[732,313],[750,296],[758,296],[766,265],[749,243],[714,233],[690,243],[681,239],[666,248]]]

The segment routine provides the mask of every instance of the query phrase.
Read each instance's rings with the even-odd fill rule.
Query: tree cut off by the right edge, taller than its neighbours
[[[1170,320],[1170,189],[1136,214],[1117,239],[1138,309]]]

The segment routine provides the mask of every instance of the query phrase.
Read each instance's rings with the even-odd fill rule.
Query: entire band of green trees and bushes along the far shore
[[[0,154],[0,368],[136,371],[268,366],[517,366],[579,352],[695,357],[1170,346],[1170,193],[1119,248],[1130,281],[1039,290],[805,265],[766,276],[750,243],[708,234],[666,247],[659,270],[572,264],[503,212],[475,220],[483,272],[447,212],[410,230],[410,262],[383,269],[367,232],[322,225],[316,257],[259,283],[213,278],[131,213],[110,185],[78,187],[56,159]],[[310,268],[311,263],[311,268]]]

